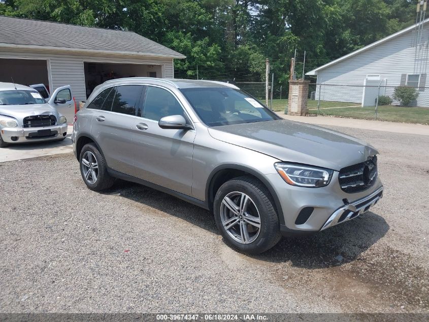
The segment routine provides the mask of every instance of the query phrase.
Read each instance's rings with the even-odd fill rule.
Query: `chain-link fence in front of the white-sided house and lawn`
[[[311,83],[308,108],[313,115],[429,124],[429,87]],[[287,100],[275,110],[287,111]]]

